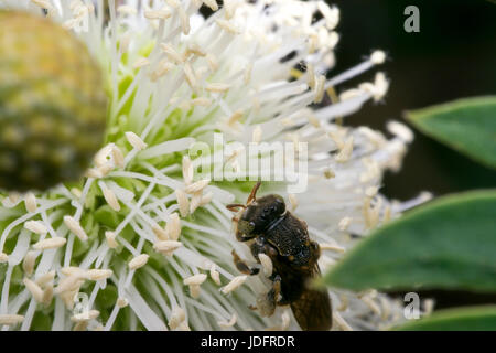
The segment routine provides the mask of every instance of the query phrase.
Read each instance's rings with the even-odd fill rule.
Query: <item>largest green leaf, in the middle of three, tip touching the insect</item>
[[[496,190],[440,197],[378,228],[325,276],[334,287],[496,291]]]

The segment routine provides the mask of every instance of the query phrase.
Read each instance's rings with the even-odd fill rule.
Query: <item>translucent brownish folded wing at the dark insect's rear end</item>
[[[316,278],[320,274],[319,265],[315,265],[311,277]],[[332,327],[331,298],[325,289],[306,288],[291,302],[291,310],[303,331],[327,331]]]

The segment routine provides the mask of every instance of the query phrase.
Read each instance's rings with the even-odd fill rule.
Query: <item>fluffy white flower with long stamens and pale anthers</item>
[[[284,195],[308,222],[324,271],[353,245],[349,234],[411,206],[378,193],[384,171],[400,167],[407,130],[395,125],[401,132],[388,140],[334,122],[384,97],[381,73],[339,99],[334,87],[385,54],[326,78],[339,13],[323,1],[225,0],[217,10],[215,0],[109,0],[105,15],[106,3],[0,1],[73,30],[104,68],[110,99],[108,145],[79,185],[2,200],[0,324],[296,329],[287,308],[271,318],[248,309],[268,280],[263,271],[240,276],[231,260],[233,248],[251,257],[225,205],[244,202],[252,183],[200,180],[197,160],[183,157],[214,132],[229,143],[308,142],[308,190],[289,197],[279,182],[265,183],[263,193]],[[201,6],[216,11],[205,19]],[[313,105],[327,96],[333,104]],[[225,161],[236,165],[237,152]],[[375,291],[331,297],[336,330],[381,329],[402,317],[400,304]]]

